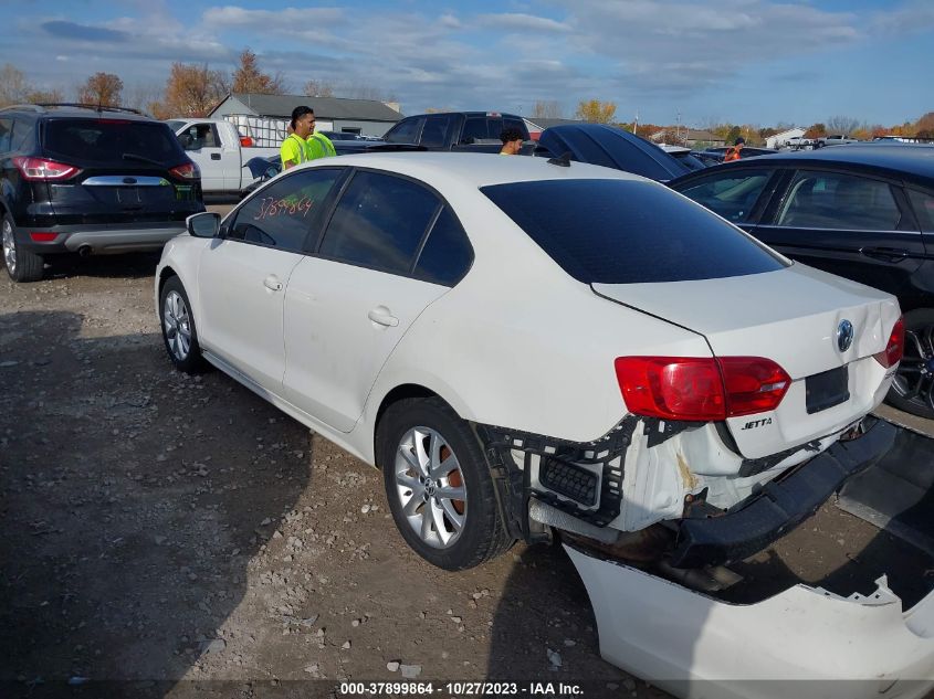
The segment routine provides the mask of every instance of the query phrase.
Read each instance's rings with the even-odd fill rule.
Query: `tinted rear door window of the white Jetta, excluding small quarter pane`
[[[420,184],[377,172],[357,172],[324,234],[325,257],[408,274],[439,206]]]

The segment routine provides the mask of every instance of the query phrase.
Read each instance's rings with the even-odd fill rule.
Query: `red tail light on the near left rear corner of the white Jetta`
[[[616,375],[631,413],[712,421],[775,410],[791,378],[763,357],[619,357]]]

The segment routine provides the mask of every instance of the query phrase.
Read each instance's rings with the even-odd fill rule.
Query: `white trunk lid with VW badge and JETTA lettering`
[[[726,421],[747,458],[846,427],[882,400],[894,373],[872,356],[885,348],[898,301],[801,264],[726,278],[591,286],[600,296],[702,335],[715,356],[765,357],[785,369],[791,385],[776,410]],[[843,321],[852,326],[852,342],[841,350],[837,336]],[[840,371],[825,374],[831,370]],[[821,403],[823,393],[829,405]]]

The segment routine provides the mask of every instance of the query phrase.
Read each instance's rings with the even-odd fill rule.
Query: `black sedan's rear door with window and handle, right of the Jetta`
[[[754,235],[805,264],[896,296],[924,257],[902,187],[852,172],[791,172]]]

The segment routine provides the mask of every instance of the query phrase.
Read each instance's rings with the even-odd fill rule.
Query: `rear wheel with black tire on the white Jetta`
[[[428,562],[464,570],[514,543],[476,435],[441,399],[391,404],[377,426],[376,457],[392,519]]]

